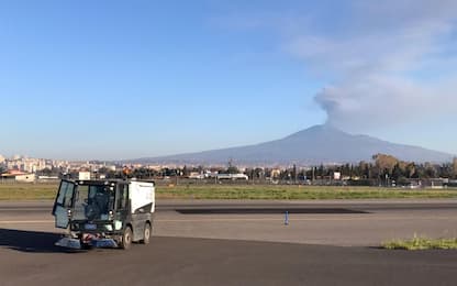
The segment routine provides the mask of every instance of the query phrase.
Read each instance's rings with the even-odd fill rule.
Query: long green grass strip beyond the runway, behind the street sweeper
[[[57,184],[0,184],[0,200],[53,200]],[[395,199],[457,198],[457,190],[281,185],[157,186],[157,198],[177,199]]]

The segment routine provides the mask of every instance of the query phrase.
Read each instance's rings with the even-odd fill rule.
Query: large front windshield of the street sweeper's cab
[[[74,220],[108,220],[113,201],[111,186],[79,185],[75,198]]]

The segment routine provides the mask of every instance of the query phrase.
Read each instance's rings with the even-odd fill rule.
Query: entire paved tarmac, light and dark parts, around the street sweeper
[[[457,237],[457,200],[160,200],[149,245],[87,252],[51,208],[0,202],[0,285],[457,285],[457,251],[379,249]]]

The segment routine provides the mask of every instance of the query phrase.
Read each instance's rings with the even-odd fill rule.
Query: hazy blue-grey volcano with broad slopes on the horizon
[[[453,154],[394,144],[368,135],[354,135],[330,125],[315,125],[266,143],[130,161],[143,164],[342,164],[369,161],[382,153],[411,162],[450,162]]]

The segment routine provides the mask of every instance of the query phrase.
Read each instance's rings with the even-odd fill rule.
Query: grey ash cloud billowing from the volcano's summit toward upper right
[[[353,1],[337,35],[308,30],[286,47],[331,75],[314,98],[327,123],[350,131],[408,123],[457,108],[455,11],[457,1]]]

